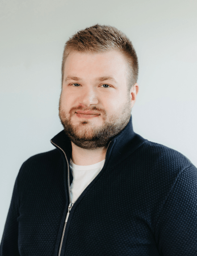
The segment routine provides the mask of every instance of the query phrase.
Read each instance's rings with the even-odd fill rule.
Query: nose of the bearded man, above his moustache
[[[81,103],[85,106],[97,105],[98,104],[98,96],[97,96],[97,92],[95,92],[95,89],[94,88],[86,88],[80,97],[79,103]]]

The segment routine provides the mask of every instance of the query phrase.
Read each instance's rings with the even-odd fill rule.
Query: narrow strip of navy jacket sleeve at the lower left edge
[[[14,190],[12,192],[12,198],[10,203],[9,212],[7,214],[5,229],[2,236],[0,246],[0,256],[18,256],[18,197],[17,197],[17,182],[18,177],[14,184]]]

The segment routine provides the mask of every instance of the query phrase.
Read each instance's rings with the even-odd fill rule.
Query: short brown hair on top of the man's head
[[[71,51],[106,52],[111,49],[118,49],[128,61],[129,70],[131,71],[129,72],[129,89],[131,89],[137,82],[139,70],[136,51],[123,32],[115,27],[99,24],[78,31],[65,43],[61,66],[62,82],[65,61]]]

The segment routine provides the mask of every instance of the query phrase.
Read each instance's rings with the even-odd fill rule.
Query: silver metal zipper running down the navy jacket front
[[[67,166],[68,166],[68,193],[69,193],[69,206],[68,206],[68,212],[66,214],[66,219],[65,219],[65,222],[64,222],[64,229],[62,231],[62,236],[61,236],[61,242],[60,242],[60,248],[58,250],[58,256],[60,256],[61,254],[61,247],[62,247],[62,243],[63,243],[63,240],[64,240],[64,234],[65,234],[65,229],[66,229],[66,224],[68,222],[68,218],[69,218],[69,214],[70,214],[70,210],[72,209],[73,207],[73,204],[76,203],[77,199],[79,198],[79,196],[77,197],[77,199],[74,201],[74,203],[71,202],[71,196],[70,196],[70,170],[69,170],[69,162],[68,162],[68,158],[64,152],[64,150],[62,150],[61,147],[57,146],[57,144],[55,144],[53,141],[51,141],[51,143],[53,145],[55,145],[56,147],[60,148],[60,150],[64,153],[65,155],[65,158],[66,158],[66,162],[67,162]],[[110,143],[111,141],[108,143],[108,146],[107,146],[107,150],[108,150],[108,147],[110,146]],[[106,156],[107,156],[107,150],[106,150]],[[104,163],[106,162],[106,157],[104,159]]]

